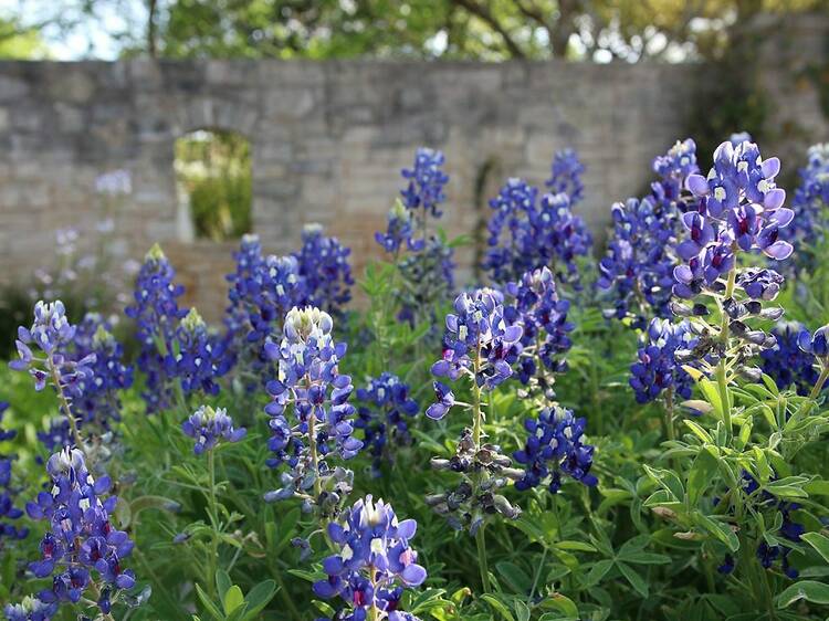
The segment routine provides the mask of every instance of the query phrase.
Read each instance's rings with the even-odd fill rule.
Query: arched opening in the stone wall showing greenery
[[[227,241],[251,232],[251,143],[225,129],[198,129],[175,146],[178,236]]]

